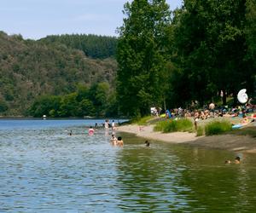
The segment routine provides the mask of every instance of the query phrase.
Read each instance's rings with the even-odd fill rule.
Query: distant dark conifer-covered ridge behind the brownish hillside
[[[80,49],[90,58],[105,59],[116,54],[117,38],[86,34],[48,36],[40,39],[42,43],[63,43],[68,48]]]

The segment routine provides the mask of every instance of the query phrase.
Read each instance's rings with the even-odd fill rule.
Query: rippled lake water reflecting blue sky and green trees
[[[87,135],[96,122],[0,120],[0,212],[256,212],[255,155],[128,134],[112,147]]]

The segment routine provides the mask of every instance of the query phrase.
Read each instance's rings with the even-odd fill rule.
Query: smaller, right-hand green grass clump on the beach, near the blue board
[[[232,130],[229,121],[212,121],[205,126],[206,135],[218,135]]]

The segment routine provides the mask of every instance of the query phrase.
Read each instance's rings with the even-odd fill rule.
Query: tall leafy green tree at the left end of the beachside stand
[[[143,116],[163,102],[170,11],[165,0],[134,0],[125,3],[124,14],[117,49],[119,106],[125,114]]]

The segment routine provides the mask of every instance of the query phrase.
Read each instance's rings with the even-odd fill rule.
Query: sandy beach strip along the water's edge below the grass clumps
[[[196,136],[195,133],[154,132],[154,125],[139,126],[137,124],[121,125],[118,132],[134,134],[148,140],[166,141],[173,144],[187,144],[192,147],[224,149],[231,152],[256,153],[256,138],[248,135],[212,135]]]

